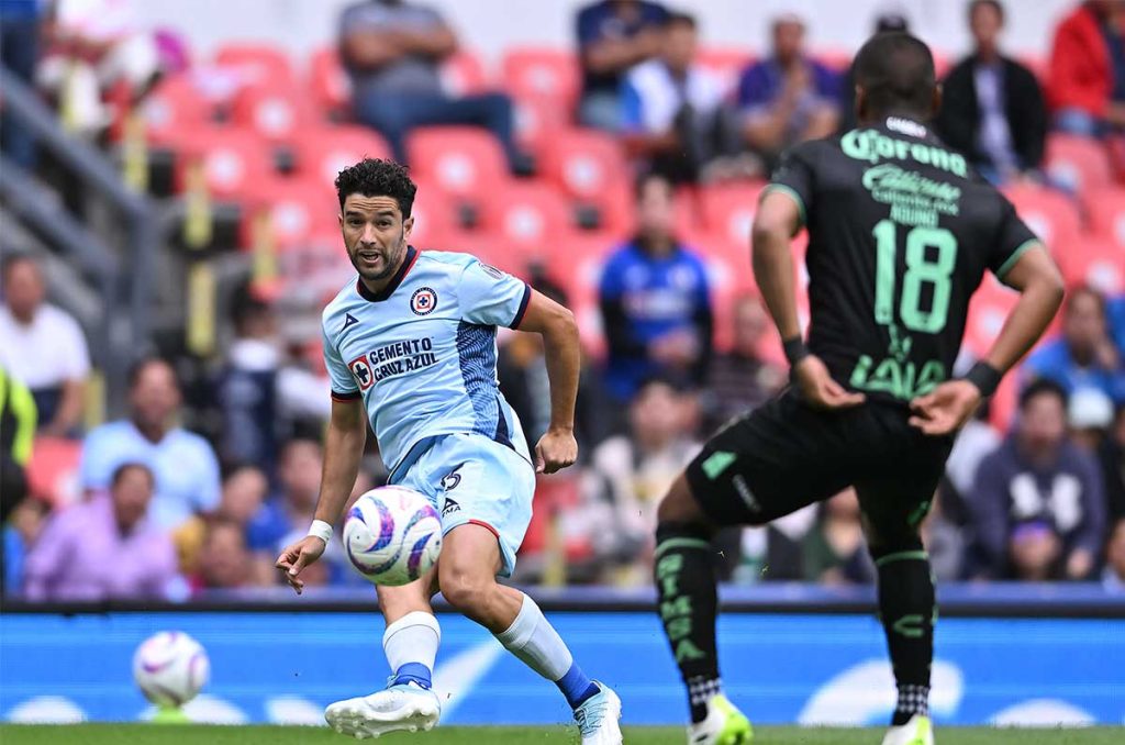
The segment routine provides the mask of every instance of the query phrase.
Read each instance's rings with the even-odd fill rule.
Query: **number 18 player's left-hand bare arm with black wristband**
[[[834,380],[825,363],[801,343],[794,288],[796,270],[790,252],[790,240],[800,227],[801,210],[796,201],[786,194],[766,192],[754,218],[754,277],[786,345],[786,357],[804,400],[818,409],[855,406],[863,403],[863,394],[848,392]]]

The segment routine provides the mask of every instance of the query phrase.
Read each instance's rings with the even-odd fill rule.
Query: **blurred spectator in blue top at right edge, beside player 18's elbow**
[[[1062,335],[1038,348],[1024,365],[1032,377],[1050,378],[1068,394],[1097,388],[1125,403],[1125,365],[1106,326],[1106,302],[1090,287],[1071,290],[1063,306]]]

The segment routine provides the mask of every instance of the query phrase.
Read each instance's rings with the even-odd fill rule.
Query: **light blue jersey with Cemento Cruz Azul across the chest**
[[[410,246],[381,293],[357,278],[328,303],[332,395],[363,398],[392,483],[448,434],[482,436],[530,463],[496,380],[496,327],[518,327],[530,298],[525,282],[475,257]]]

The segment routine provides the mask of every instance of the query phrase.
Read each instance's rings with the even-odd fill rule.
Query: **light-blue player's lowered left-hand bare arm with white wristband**
[[[316,497],[316,520],[334,526],[348,502],[359,461],[363,457],[367,441],[367,416],[360,398],[332,401],[332,416],[324,441],[324,466],[321,470],[321,493]],[[277,568],[285,574],[286,582],[300,594],[305,582],[300,571],[321,558],[326,541],[314,535],[286,547],[278,556]]]

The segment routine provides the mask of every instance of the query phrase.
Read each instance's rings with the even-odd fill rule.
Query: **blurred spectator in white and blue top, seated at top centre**
[[[675,182],[695,181],[726,146],[722,82],[695,61],[695,19],[670,14],[659,56],[642,62],[622,83],[626,146],[651,170]]]

